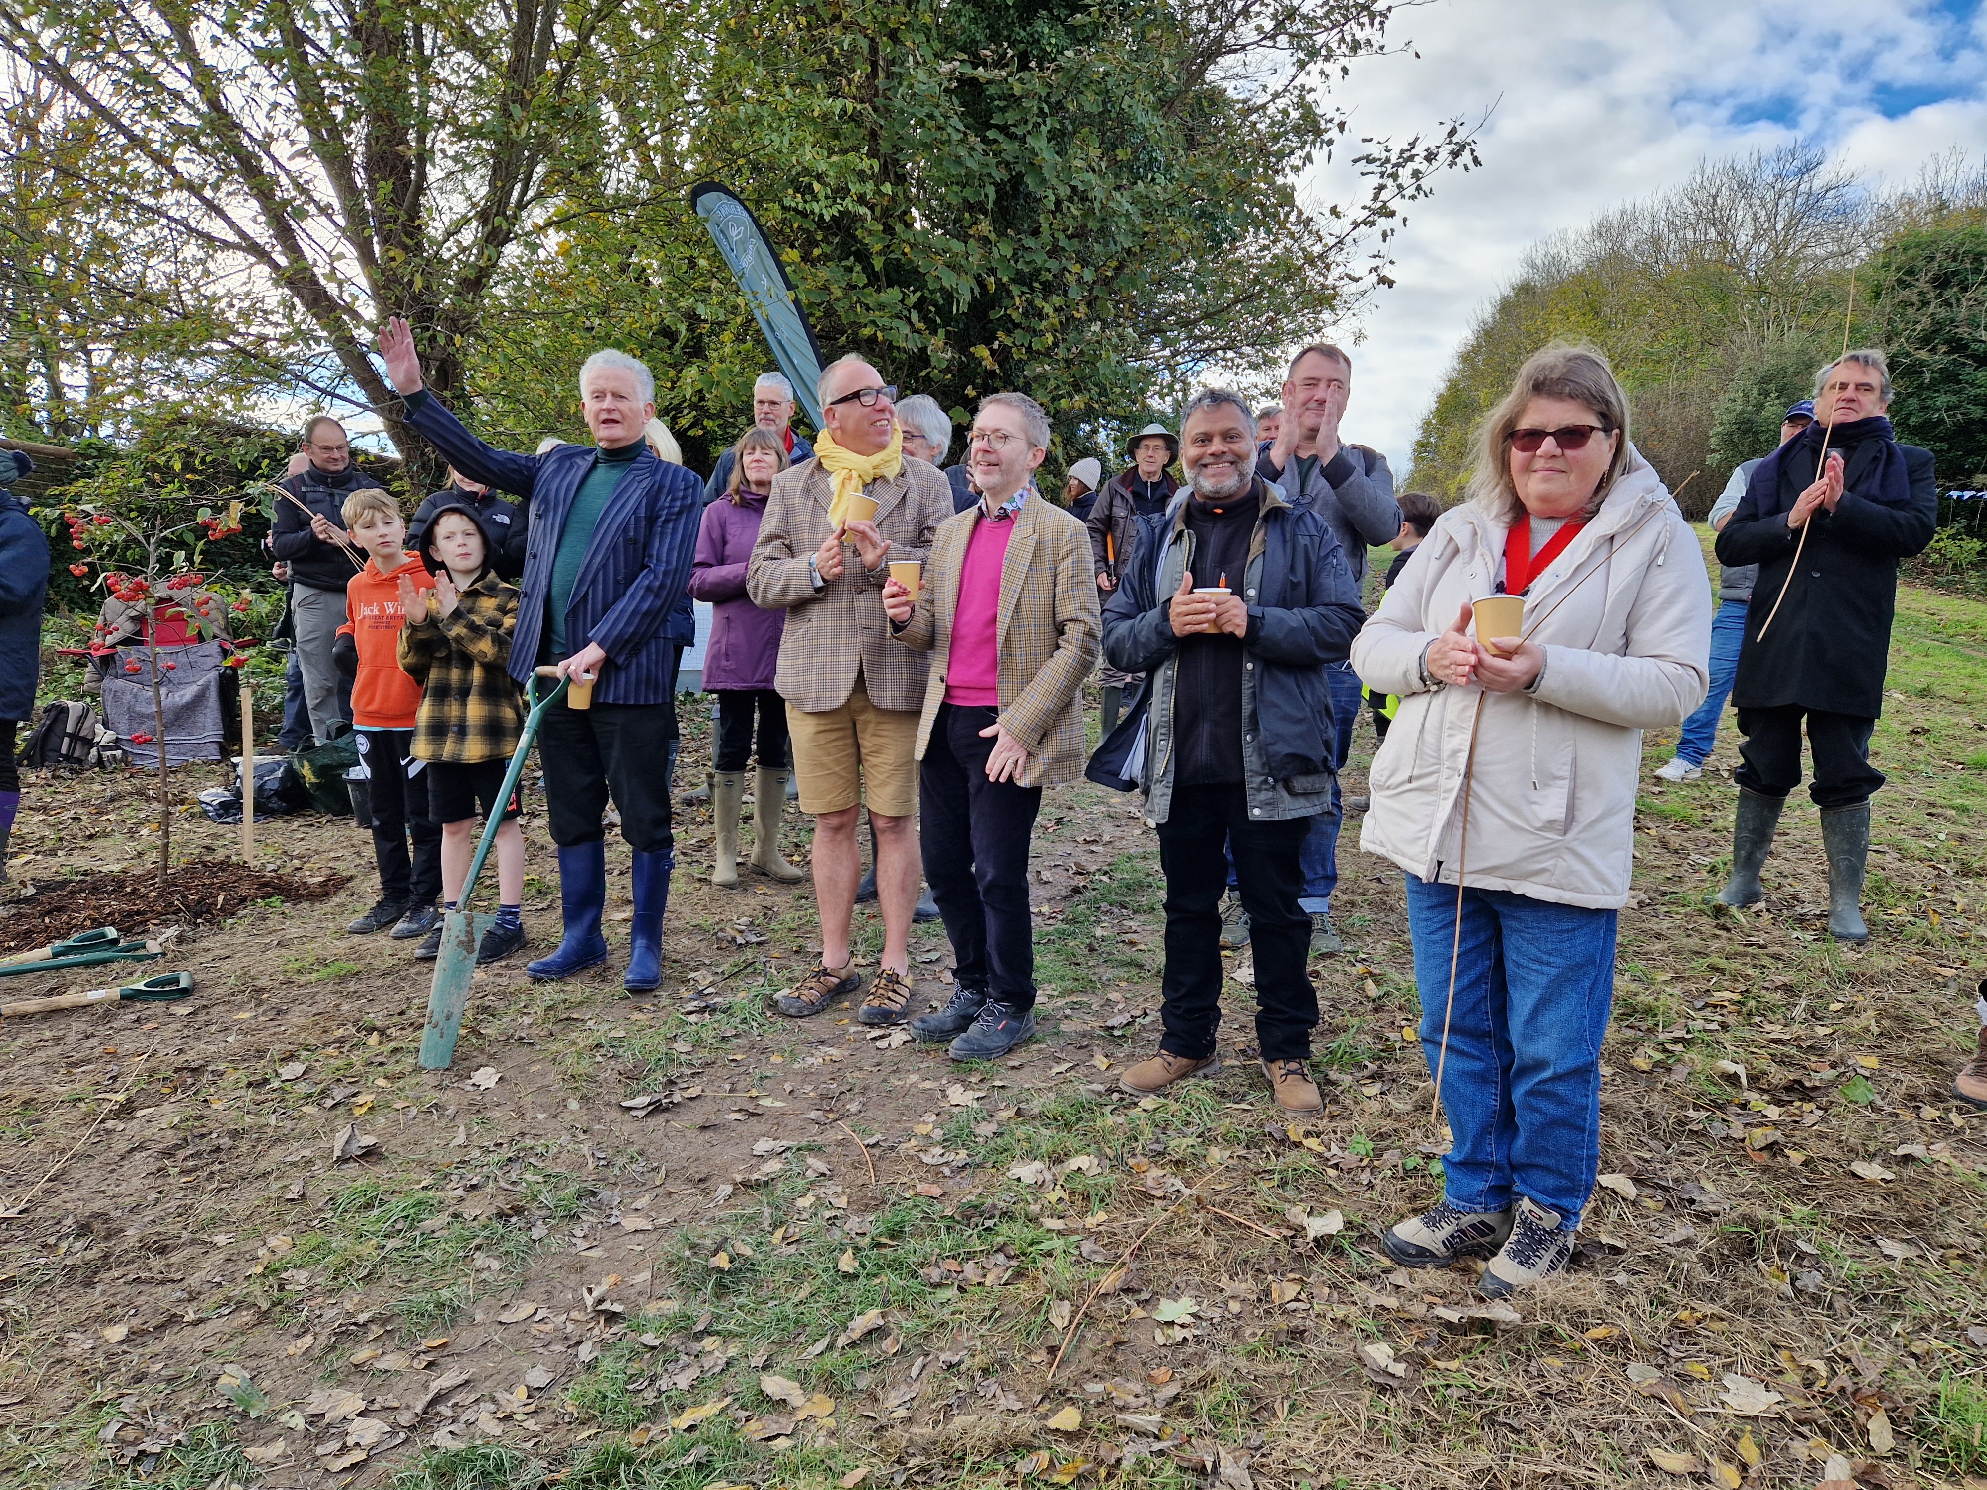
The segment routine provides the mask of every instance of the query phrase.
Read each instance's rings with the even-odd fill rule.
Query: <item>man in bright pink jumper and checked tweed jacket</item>
[[[968,441],[980,501],[938,530],[924,582],[882,602],[896,640],[930,650],[918,721],[924,878],[952,938],[954,993],[910,1021],[992,1061],[1035,1033],[1027,850],[1041,789],[1083,775],[1083,679],[1097,662],[1097,580],[1077,519],[1033,487],[1049,417],[1023,393],[982,399]]]

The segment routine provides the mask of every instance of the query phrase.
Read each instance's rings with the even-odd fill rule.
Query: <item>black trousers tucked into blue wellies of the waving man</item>
[[[622,838],[636,852],[676,846],[670,832],[670,743],[674,703],[594,703],[560,699],[538,727],[544,817],[552,842],[574,848],[606,836],[608,793],[622,815]]]

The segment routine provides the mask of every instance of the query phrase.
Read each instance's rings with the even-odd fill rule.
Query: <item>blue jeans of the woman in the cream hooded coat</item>
[[[1462,892],[1462,944],[1443,1111],[1454,1146],[1443,1194],[1460,1210],[1518,1196],[1566,1230],[1594,1194],[1602,1140],[1602,1035],[1613,1007],[1613,910],[1510,890]],[[1421,989],[1421,1051],[1433,1075],[1449,1003],[1456,888],[1407,876],[1407,926]]]

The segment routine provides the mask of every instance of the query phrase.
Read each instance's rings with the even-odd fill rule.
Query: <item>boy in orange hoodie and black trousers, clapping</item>
[[[370,558],[346,584],[346,624],[338,628],[338,666],[352,675],[352,727],[372,777],[374,860],[380,902],[346,926],[354,936],[393,928],[395,940],[427,936],[441,924],[441,828],[429,819],[427,775],[413,759],[413,719],[421,685],[399,670],[405,610],[401,580],[435,588],[419,554],[405,552],[407,522],[380,489],[346,497],[346,528]],[[413,860],[407,838],[413,836]]]

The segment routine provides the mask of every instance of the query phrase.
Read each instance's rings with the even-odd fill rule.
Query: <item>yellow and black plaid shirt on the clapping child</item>
[[[485,570],[453,612],[401,628],[401,671],[423,685],[413,759],[473,765],[517,749],[525,731],[509,671],[517,606],[517,586]]]

